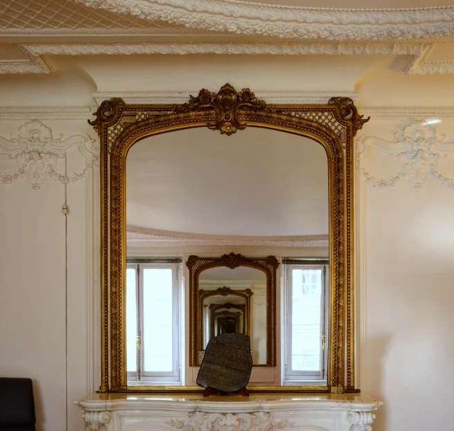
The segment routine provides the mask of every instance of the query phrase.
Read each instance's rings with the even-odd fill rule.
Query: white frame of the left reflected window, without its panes
[[[183,297],[181,292],[183,268],[181,259],[128,259],[126,269],[136,269],[136,324],[138,328],[136,344],[136,372],[127,371],[127,385],[182,385],[183,384]],[[144,349],[144,270],[147,268],[172,270],[172,371],[145,371]],[[127,288],[127,286],[126,286]],[[127,334],[127,330],[126,330]],[[126,335],[127,336],[127,335]]]

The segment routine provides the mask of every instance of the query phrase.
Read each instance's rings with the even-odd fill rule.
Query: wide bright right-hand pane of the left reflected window
[[[172,270],[143,271],[143,349],[145,372],[171,372]]]

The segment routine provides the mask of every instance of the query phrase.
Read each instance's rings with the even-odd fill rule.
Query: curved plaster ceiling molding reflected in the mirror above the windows
[[[128,246],[277,246],[277,247],[327,247],[328,235],[248,237],[244,235],[208,235],[126,227]]]

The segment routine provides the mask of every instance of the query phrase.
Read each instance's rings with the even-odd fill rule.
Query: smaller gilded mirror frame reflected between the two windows
[[[226,266],[234,269],[239,266],[248,266],[261,270],[266,275],[266,367],[276,366],[276,270],[279,262],[274,256],[269,257],[244,257],[230,253],[221,257],[198,257],[190,256],[186,262],[189,270],[189,366],[199,366],[199,346],[201,335],[198,331],[197,322],[200,322],[199,301],[199,275],[204,270]],[[235,292],[236,293],[236,292]],[[246,297],[248,302],[249,297]],[[258,365],[260,366],[260,365]],[[257,367],[257,365],[254,365]]]

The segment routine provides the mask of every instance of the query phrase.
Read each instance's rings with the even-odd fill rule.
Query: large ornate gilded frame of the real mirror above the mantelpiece
[[[356,392],[354,376],[354,136],[369,120],[349,98],[327,104],[269,105],[249,89],[230,84],[206,89],[185,104],[100,104],[93,126],[100,137],[101,198],[101,386],[100,392],[198,387],[128,387],[125,347],[127,151],[138,140],[191,127],[230,135],[263,127],[306,136],[325,147],[329,170],[329,361],[327,387],[250,387],[255,391]],[[241,132],[239,132],[241,133]]]

